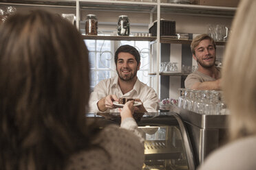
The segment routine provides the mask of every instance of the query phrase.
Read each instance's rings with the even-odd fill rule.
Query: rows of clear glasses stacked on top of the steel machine
[[[178,107],[199,114],[228,114],[222,91],[180,88]]]

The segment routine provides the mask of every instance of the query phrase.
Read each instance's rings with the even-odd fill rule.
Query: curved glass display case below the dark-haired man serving
[[[100,125],[120,123],[120,113],[87,114]],[[145,138],[143,169],[195,169],[193,149],[186,128],[175,112],[134,114]]]

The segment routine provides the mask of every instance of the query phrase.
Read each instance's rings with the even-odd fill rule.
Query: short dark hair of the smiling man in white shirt
[[[118,53],[120,52],[124,52],[124,53],[130,53],[132,56],[135,57],[135,60],[137,62],[137,66],[138,64],[140,64],[140,53],[138,52],[138,50],[135,47],[132,47],[131,45],[122,45],[120,46],[115,53],[115,63],[117,63],[118,60]]]

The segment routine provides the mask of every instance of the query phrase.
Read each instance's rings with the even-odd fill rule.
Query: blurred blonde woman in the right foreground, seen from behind
[[[242,0],[232,25],[222,70],[224,98],[231,112],[230,143],[217,149],[202,169],[256,167],[256,1]]]

